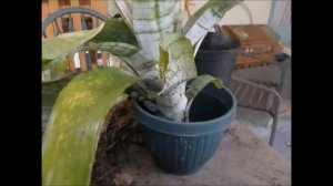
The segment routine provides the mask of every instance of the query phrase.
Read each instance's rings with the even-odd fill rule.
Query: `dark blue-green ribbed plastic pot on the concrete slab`
[[[191,123],[168,121],[133,102],[143,142],[155,164],[167,173],[198,172],[214,155],[225,128],[235,118],[235,99],[223,87],[209,84],[190,108]]]

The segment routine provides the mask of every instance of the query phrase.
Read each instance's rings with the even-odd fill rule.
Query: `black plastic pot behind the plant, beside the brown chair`
[[[219,32],[209,32],[195,55],[198,74],[211,74],[229,87],[241,44]]]

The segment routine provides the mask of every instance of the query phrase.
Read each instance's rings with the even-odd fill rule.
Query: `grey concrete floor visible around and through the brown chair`
[[[291,161],[291,59],[286,59],[282,66],[285,70],[285,74],[283,87],[280,92],[282,96],[281,114],[273,147],[285,159]],[[265,80],[276,83],[280,82],[281,75],[276,66],[239,70],[234,74],[244,79]],[[272,117],[268,113],[239,107],[236,118],[261,140],[269,142]]]

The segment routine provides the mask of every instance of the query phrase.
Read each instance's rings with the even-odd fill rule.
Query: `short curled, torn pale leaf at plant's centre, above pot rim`
[[[161,113],[169,120],[183,121],[188,99],[185,82],[196,76],[191,42],[180,33],[161,35],[161,76],[165,84],[157,97]]]

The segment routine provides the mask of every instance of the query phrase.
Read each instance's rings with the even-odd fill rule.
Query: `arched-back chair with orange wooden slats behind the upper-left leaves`
[[[51,38],[65,32],[90,30],[99,27],[107,18],[98,11],[85,8],[60,9],[42,21],[42,37]],[[85,45],[88,44],[85,43]],[[73,59],[69,60],[71,73],[90,71],[107,65],[107,53],[104,52],[79,52],[74,54]]]

